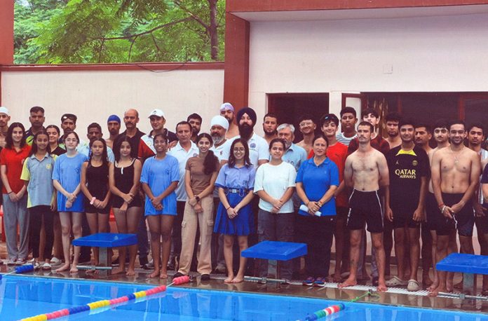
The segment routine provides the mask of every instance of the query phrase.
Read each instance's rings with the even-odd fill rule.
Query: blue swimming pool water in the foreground
[[[20,320],[101,299],[114,299],[153,285],[7,275],[0,280],[0,320]],[[169,287],[166,292],[57,320],[299,320],[341,301]],[[344,302],[344,301],[342,301]],[[321,320],[481,321],[488,315],[346,303],[346,310]]]

